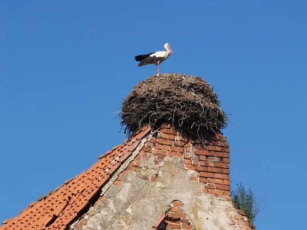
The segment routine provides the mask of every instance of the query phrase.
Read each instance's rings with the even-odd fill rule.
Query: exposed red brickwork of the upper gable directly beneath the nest
[[[206,145],[207,144],[207,145]],[[130,163],[127,170],[140,170],[141,162],[157,155],[155,164],[165,156],[183,158],[184,167],[191,175],[190,180],[206,184],[205,193],[230,196],[229,143],[219,135],[205,145],[193,143],[169,125],[164,125],[157,137],[152,137],[140,154]],[[159,175],[144,179],[159,180]]]

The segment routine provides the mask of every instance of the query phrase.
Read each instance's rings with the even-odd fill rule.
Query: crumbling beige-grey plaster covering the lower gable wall
[[[84,216],[86,224],[82,228],[151,230],[171,201],[180,200],[196,230],[234,229],[225,213],[227,208],[233,209],[231,202],[204,193],[204,183],[189,180],[191,175],[184,169],[183,159],[166,156],[156,165],[157,157],[150,155],[147,162],[142,161],[139,172],[129,171],[122,176],[120,186],[110,186],[102,202]],[[159,180],[142,178],[152,175],[159,175]]]

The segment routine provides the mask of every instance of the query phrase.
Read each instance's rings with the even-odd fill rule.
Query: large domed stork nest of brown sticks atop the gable
[[[228,123],[209,83],[182,74],[153,75],[137,84],[123,101],[119,117],[128,135],[148,124],[154,129],[169,123],[200,140]]]

